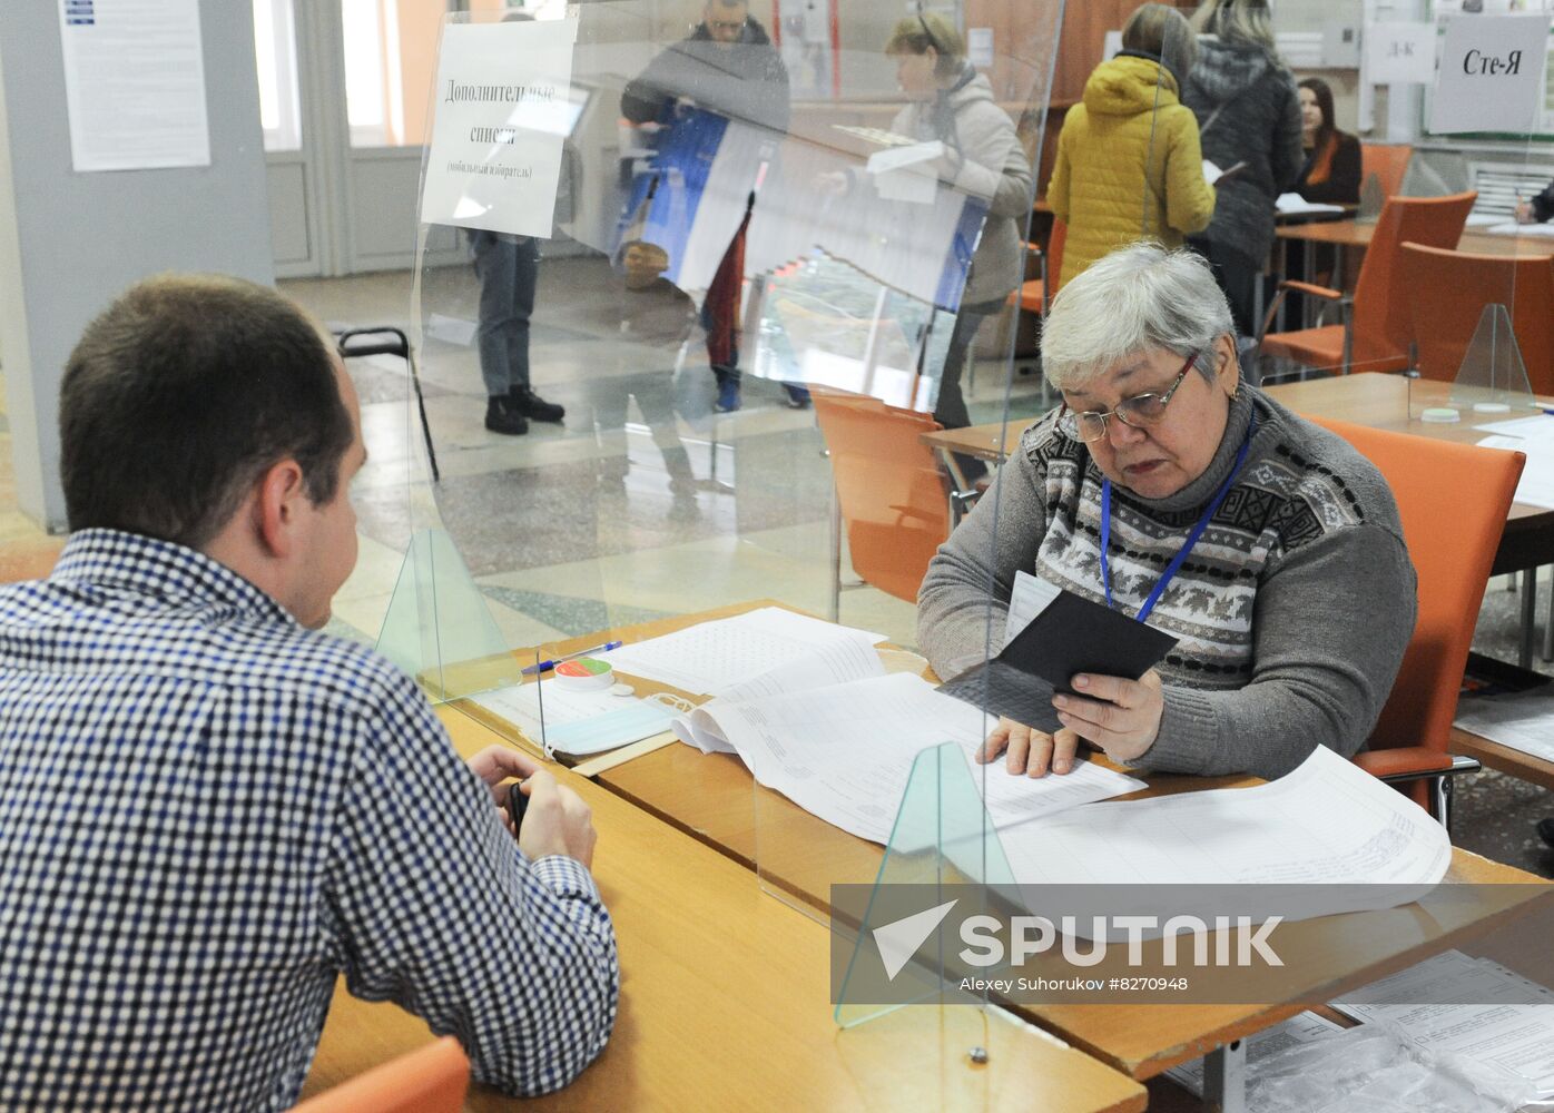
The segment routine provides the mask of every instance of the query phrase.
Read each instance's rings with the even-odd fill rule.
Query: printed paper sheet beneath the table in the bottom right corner
[[[1375,1004],[1335,1001],[1366,1023],[1385,1023],[1430,1051],[1490,1063],[1554,1096],[1554,992],[1489,959],[1445,951],[1361,993]],[[1431,1004],[1467,998],[1483,1004]]]

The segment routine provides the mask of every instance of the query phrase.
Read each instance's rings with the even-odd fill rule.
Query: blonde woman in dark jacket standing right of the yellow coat
[[[1256,331],[1257,281],[1273,247],[1274,202],[1304,162],[1301,103],[1279,61],[1268,0],[1206,0],[1192,17],[1198,61],[1183,103],[1198,117],[1203,157],[1240,169],[1215,183],[1214,221],[1189,244],[1214,267],[1235,331]]]

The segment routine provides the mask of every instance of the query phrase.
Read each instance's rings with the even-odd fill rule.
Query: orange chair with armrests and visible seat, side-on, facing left
[[[1431,247],[1456,247],[1476,193],[1448,197],[1388,197],[1371,236],[1354,297],[1304,281],[1279,283],[1279,295],[1262,323],[1262,350],[1307,367],[1341,367],[1355,372],[1402,372],[1408,368],[1413,322],[1408,316],[1408,283],[1402,275],[1403,241]],[[1341,325],[1268,333],[1287,291],[1336,303]]]

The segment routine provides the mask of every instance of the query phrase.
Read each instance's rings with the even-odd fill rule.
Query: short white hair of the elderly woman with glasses
[[[1231,306],[1201,255],[1130,244],[1058,291],[1041,326],[1041,367],[1066,390],[1141,353],[1203,356],[1228,333]],[[1214,379],[1212,361],[1200,359],[1198,370]]]

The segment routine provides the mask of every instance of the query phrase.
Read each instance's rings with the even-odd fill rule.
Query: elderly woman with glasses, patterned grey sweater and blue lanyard
[[[1075,676],[1054,735],[1001,720],[982,759],[1277,777],[1350,755],[1414,628],[1397,507],[1346,441],[1240,378],[1207,264],[1134,244],[1066,284],[1041,358],[1063,406],[934,556],[918,642],[940,676],[996,653],[1016,574],[1178,639],[1141,679]],[[991,642],[991,644],[990,644]]]

